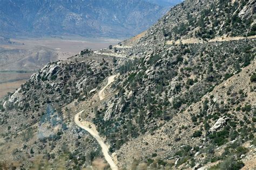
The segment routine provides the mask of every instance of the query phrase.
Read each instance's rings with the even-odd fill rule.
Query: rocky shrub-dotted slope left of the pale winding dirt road
[[[93,97],[97,90],[94,88],[109,76],[111,67],[112,57],[97,57],[85,50],[65,62],[48,64],[33,74],[1,105],[1,109],[6,108],[1,113],[4,132],[1,134],[1,144],[4,144],[0,148],[1,160],[14,160],[24,168],[61,168],[76,165],[74,162],[63,164],[67,157],[70,160],[80,157],[84,166],[90,166],[96,156],[102,155],[100,147],[76,126],[73,113],[80,109],[78,103],[83,104],[86,98]],[[74,107],[77,110],[73,110]],[[5,141],[9,142],[5,145]]]

